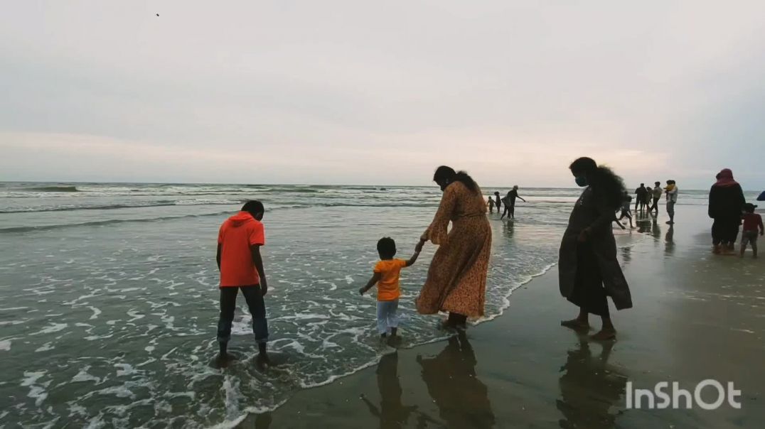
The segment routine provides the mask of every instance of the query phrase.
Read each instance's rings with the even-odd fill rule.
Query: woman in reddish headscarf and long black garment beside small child
[[[715,219],[712,224],[712,245],[714,252],[734,250],[738,226],[741,225],[741,208],[747,201],[744,190],[736,180],[733,171],[724,168],[717,175],[717,182],[709,190],[709,217]]]

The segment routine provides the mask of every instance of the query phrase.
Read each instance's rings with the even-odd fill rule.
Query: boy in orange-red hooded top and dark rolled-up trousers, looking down
[[[220,354],[216,362],[226,366],[229,355],[226,348],[231,338],[231,324],[236,308],[236,294],[242,291],[252,314],[252,332],[258,343],[260,362],[268,363],[265,344],[269,340],[269,323],[265,319],[263,297],[269,290],[263,271],[260,246],[265,245],[263,219],[265,209],[260,201],[247,201],[242,211],[226,219],[218,232],[216,260],[220,270],[220,319],[218,344]]]

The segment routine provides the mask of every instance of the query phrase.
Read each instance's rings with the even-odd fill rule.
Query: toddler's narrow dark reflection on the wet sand
[[[401,384],[399,383],[399,352],[382,356],[377,365],[377,388],[380,393],[380,406],[377,408],[369,399],[362,397],[362,401],[369,407],[376,418],[379,418],[381,428],[403,427],[409,420],[409,415],[417,409],[416,406],[407,407],[401,403]]]

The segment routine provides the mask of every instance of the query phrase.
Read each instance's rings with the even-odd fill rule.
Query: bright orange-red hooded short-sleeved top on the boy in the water
[[[265,245],[262,223],[247,212],[236,213],[220,226],[218,244],[221,288],[260,284],[249,246]]]

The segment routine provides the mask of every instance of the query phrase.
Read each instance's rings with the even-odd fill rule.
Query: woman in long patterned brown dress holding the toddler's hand
[[[439,247],[417,298],[417,310],[448,311],[446,327],[464,327],[467,317],[483,316],[491,226],[480,188],[467,173],[442,166],[433,180],[444,196],[421,242],[429,240]]]

